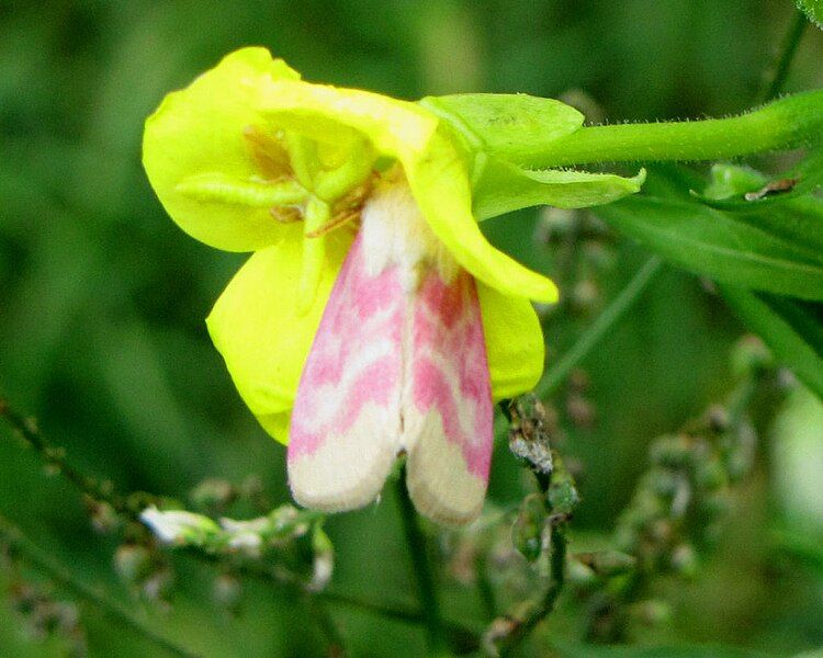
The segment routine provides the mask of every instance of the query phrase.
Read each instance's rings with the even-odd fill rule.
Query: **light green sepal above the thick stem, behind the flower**
[[[577,131],[584,121],[574,107],[527,94],[461,93],[426,97],[421,105],[462,135],[475,151],[523,163],[548,144]]]

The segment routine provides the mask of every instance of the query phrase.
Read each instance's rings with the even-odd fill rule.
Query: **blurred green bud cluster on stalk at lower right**
[[[607,568],[602,558],[575,556],[571,580],[583,590],[594,590],[593,638],[622,639],[632,621],[666,622],[672,614],[668,604],[644,599],[644,583],[664,574],[696,576],[700,553],[719,540],[732,509],[732,485],[754,462],[756,434],[746,410],[762,377],[774,374],[771,356],[757,339],[743,339],[732,351],[731,365],[739,386],[726,405],[710,407],[684,430],[650,445],[649,468],[615,531],[620,553],[602,556]],[[605,582],[604,577],[617,578]]]

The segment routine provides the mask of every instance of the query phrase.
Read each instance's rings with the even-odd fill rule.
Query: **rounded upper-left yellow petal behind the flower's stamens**
[[[229,251],[274,243],[282,226],[264,207],[238,203],[243,185],[259,181],[244,132],[261,122],[260,94],[273,80],[298,79],[266,48],[243,48],[170,93],[146,121],[143,163],[171,218],[192,237]],[[238,181],[238,192],[221,201],[191,194],[187,182],[202,177]]]

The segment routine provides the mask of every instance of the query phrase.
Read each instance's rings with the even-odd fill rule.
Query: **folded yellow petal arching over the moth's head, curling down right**
[[[356,131],[375,150],[403,164],[412,192],[435,235],[476,279],[518,296],[555,302],[551,280],[520,265],[483,237],[472,215],[466,162],[440,120],[406,101],[322,84],[280,80],[270,86],[266,114],[278,126],[322,141],[353,143]]]

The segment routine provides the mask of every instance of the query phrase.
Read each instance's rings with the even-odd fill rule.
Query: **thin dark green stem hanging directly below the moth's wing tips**
[[[443,624],[440,619],[440,603],[436,593],[435,572],[429,561],[426,537],[420,531],[417,513],[406,489],[405,466],[401,469],[399,477],[396,480],[396,489],[403,529],[412,557],[412,570],[417,583],[417,594],[420,599],[422,617],[426,623],[429,654],[432,656],[441,655],[446,647],[442,633]]]

